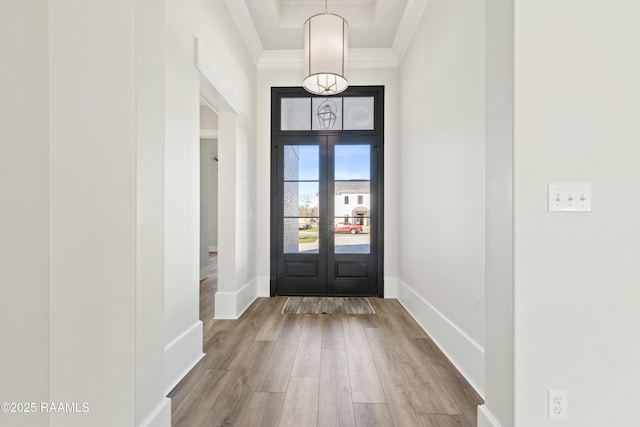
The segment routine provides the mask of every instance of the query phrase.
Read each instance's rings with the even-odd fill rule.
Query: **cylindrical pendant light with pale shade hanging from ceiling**
[[[304,23],[304,88],[316,95],[335,95],[348,86],[347,40],[349,24],[336,14],[314,15]]]

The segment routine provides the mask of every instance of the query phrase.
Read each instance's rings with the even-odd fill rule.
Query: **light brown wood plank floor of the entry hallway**
[[[398,301],[371,298],[375,315],[282,314],[285,301],[205,323],[173,426],[476,426],[482,400]]]

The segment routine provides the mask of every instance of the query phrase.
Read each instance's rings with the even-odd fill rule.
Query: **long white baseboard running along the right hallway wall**
[[[484,396],[484,348],[400,279],[398,301],[478,394]]]

